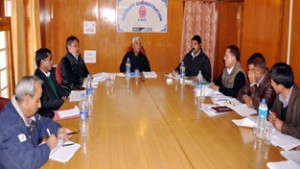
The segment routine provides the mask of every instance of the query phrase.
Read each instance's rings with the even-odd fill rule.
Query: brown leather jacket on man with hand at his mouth
[[[253,85],[250,87],[249,82],[240,89],[237,99],[240,102],[245,103],[243,96],[248,95],[252,98],[253,106],[256,110],[258,110],[259,103],[262,98],[266,99],[266,103],[269,108],[272,107],[272,104],[275,100],[276,93],[271,86],[271,80],[269,77],[269,73],[266,72],[266,75],[263,77],[262,81],[259,83],[259,86]]]

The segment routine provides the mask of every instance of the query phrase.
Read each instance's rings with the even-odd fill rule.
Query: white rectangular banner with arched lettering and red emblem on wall
[[[168,0],[117,0],[117,32],[167,32]]]

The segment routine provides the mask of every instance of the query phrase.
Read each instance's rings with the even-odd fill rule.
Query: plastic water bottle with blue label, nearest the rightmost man
[[[256,136],[260,139],[265,137],[265,125],[267,121],[268,114],[268,105],[266,104],[266,99],[263,98],[262,102],[258,107],[258,117],[257,117],[257,127],[256,127]]]

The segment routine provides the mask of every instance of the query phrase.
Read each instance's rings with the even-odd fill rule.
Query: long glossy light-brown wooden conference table
[[[205,98],[205,102],[211,102]],[[62,109],[77,103],[66,102]],[[282,161],[280,148],[256,140],[250,128],[236,126],[235,112],[209,117],[199,109],[193,87],[166,78],[116,78],[94,90],[89,135],[74,135],[81,148],[67,162],[49,160],[42,169],[259,169]],[[79,119],[59,121],[79,130]]]

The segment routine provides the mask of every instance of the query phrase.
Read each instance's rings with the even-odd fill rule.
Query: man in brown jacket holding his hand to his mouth
[[[270,108],[276,93],[271,86],[264,56],[261,53],[254,53],[248,59],[247,65],[249,83],[240,89],[237,99],[246,103],[248,107],[258,110],[261,100],[265,98]]]

